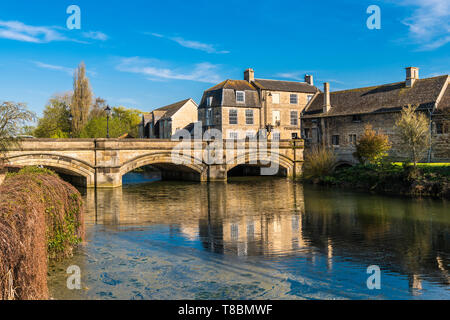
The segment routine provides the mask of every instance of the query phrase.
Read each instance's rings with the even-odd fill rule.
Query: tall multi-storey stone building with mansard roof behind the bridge
[[[225,80],[206,90],[198,108],[203,131],[217,129],[226,139],[244,139],[270,132],[279,139],[300,138],[300,114],[319,92],[313,77],[305,82],[255,79]]]

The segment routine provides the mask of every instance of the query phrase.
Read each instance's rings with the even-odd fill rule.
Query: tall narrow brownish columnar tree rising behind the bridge
[[[74,74],[71,103],[72,131],[78,136],[89,119],[92,104],[92,91],[86,77],[86,66],[81,62]]]

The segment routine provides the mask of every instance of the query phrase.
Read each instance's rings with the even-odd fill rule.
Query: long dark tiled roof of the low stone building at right
[[[441,93],[448,75],[416,80],[412,88],[405,82],[358,88],[330,93],[331,109],[323,112],[323,93],[307,106],[304,116],[340,116],[399,111],[407,105],[419,109],[432,108]]]

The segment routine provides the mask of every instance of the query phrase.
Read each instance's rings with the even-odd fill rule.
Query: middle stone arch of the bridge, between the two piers
[[[167,169],[177,172],[188,180],[204,181],[207,179],[207,166],[203,161],[190,155],[179,155],[172,152],[149,153],[133,158],[120,167],[120,176],[147,165],[152,165],[161,171]]]

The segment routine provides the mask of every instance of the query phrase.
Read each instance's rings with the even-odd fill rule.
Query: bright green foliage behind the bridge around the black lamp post
[[[132,137],[138,135],[138,125],[142,112],[125,107],[113,107],[109,119],[109,135],[118,138],[126,133]],[[106,115],[90,119],[80,133],[81,138],[105,138]]]

